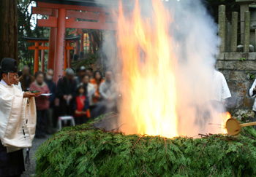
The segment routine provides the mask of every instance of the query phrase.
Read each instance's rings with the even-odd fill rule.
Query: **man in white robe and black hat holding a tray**
[[[14,86],[17,62],[4,58],[0,82],[0,176],[20,176],[24,169],[23,148],[31,147],[36,125],[34,93]]]

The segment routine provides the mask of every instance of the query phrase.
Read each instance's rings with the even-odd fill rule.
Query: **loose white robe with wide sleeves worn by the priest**
[[[37,112],[34,97],[23,98],[14,85],[0,82],[0,138],[7,152],[32,146]]]

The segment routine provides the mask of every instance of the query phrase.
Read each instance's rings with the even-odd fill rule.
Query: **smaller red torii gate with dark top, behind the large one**
[[[45,43],[48,43],[49,39],[37,38],[37,37],[27,37],[27,36],[23,36],[23,38],[27,39],[28,42],[34,42],[34,46],[28,47],[29,50],[34,50],[34,74],[37,71],[39,71],[39,50],[42,50],[42,52],[41,52],[41,71],[44,72],[45,50],[49,49],[49,47],[45,46]],[[71,67],[70,50],[74,50],[75,47],[70,46],[70,43],[74,43],[74,42],[78,41],[79,39],[80,39],[80,36],[67,37],[65,39],[64,69],[67,67]],[[42,45],[39,45],[39,43],[42,43]],[[49,62],[50,62],[50,60],[48,60],[48,63]]]

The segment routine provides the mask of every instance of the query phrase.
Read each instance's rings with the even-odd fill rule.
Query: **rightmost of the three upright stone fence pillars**
[[[244,12],[244,52],[249,52],[249,29],[250,29],[251,12]]]

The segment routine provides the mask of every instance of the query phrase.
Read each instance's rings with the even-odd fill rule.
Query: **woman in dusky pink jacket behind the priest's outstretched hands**
[[[48,85],[44,82],[44,74],[41,71],[38,71],[35,74],[35,81],[31,84],[29,90],[38,90],[40,93],[50,93]],[[45,138],[49,96],[39,95],[35,100],[37,106],[37,127],[35,137]]]

